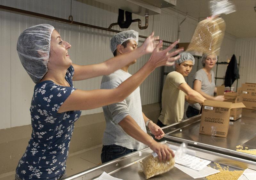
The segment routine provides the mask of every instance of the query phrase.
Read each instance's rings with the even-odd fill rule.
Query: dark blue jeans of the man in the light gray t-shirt
[[[132,153],[134,151],[137,151],[136,149],[128,149],[126,147],[118,146],[115,144],[112,145],[103,145],[101,150],[101,162],[108,162],[111,160],[114,160],[116,158],[119,158],[121,156],[124,156],[126,154]]]

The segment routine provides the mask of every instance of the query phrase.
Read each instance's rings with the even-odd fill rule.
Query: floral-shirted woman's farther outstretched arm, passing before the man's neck
[[[84,80],[102,75],[109,75],[110,73],[124,67],[127,64],[132,63],[134,59],[138,59],[148,53],[152,53],[154,50],[154,43],[158,40],[158,37],[154,37],[154,32],[144,41],[142,46],[126,55],[120,55],[108,59],[105,62],[91,65],[77,65],[72,64],[74,67],[73,81]]]

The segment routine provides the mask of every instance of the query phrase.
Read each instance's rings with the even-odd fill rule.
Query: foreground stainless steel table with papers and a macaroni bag
[[[177,149],[180,144],[173,143],[169,141],[163,141],[161,143],[167,144],[167,146],[172,146],[173,149]],[[216,152],[212,152],[209,150],[199,149],[196,147],[189,147],[188,151],[194,152],[197,157],[207,159],[213,162],[218,162],[221,165],[229,166],[230,170],[241,170],[241,169],[254,169],[256,170],[256,162],[245,160],[225,154],[220,154]],[[144,174],[140,168],[140,160],[145,158],[148,154],[152,153],[150,148],[145,148],[140,151],[133,152],[131,154],[120,157],[116,160],[109,161],[102,165],[99,165],[95,168],[88,169],[84,172],[78,173],[76,175],[65,178],[65,180],[87,180],[87,179],[95,179],[99,177],[104,171],[114,176],[116,178],[121,178],[124,180],[140,180],[145,179]],[[215,166],[212,164],[212,167]],[[193,179],[191,176],[188,176],[181,170],[177,168],[173,168],[169,172],[152,177],[150,179]],[[205,179],[205,178],[199,178]]]

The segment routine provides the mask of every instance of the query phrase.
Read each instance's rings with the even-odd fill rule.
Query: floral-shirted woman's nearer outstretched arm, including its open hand
[[[178,49],[172,53],[169,51],[178,43],[176,41],[167,49],[159,50],[162,47],[160,41],[154,49],[148,62],[134,75],[126,79],[115,89],[98,89],[91,91],[75,90],[68,96],[66,101],[60,106],[58,113],[71,110],[86,110],[94,109],[108,104],[123,101],[129,94],[131,94],[140,84],[154,71],[156,67],[163,65],[172,65],[180,56],[177,55],[183,49]]]

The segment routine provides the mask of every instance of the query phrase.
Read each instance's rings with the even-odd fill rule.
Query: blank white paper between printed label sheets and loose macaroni
[[[182,166],[182,165],[179,165],[179,164],[175,164],[174,167],[180,169],[181,171],[183,171],[184,173],[186,173],[189,176],[193,177],[194,179],[210,176],[212,174],[220,172],[219,170],[210,168],[208,166],[204,167],[200,171],[196,171],[194,169],[190,169],[188,167],[185,167],[185,166]]]

